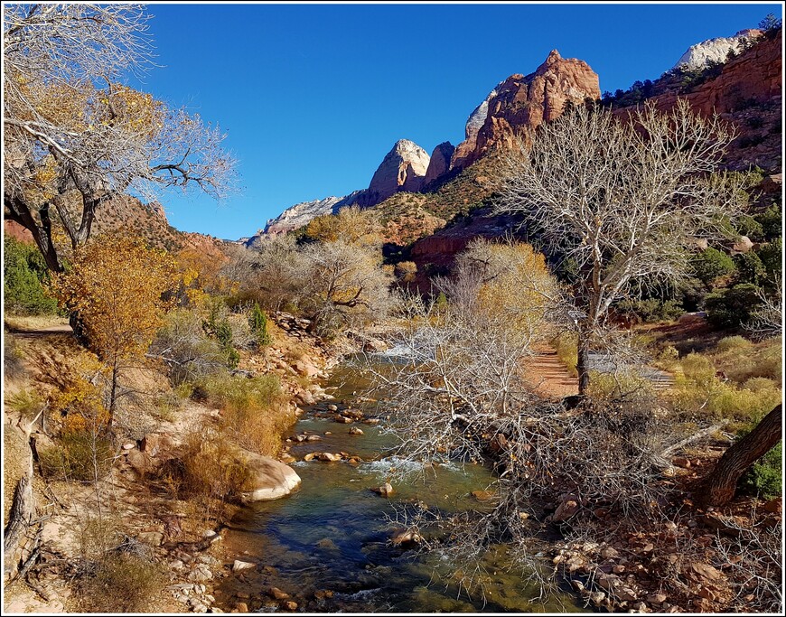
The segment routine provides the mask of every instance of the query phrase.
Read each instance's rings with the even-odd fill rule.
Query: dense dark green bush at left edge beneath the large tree
[[[11,236],[4,237],[3,245],[5,310],[28,315],[57,314],[57,300],[44,289],[49,276],[38,249]]]

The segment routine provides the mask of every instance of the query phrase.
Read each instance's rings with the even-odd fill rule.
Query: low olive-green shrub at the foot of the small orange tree
[[[88,482],[107,474],[113,454],[107,437],[70,431],[61,435],[59,443],[41,450],[39,459],[46,478]]]

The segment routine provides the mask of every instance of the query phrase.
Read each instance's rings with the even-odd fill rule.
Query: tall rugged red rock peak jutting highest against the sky
[[[600,98],[597,73],[585,61],[562,58],[557,50],[527,76],[511,75],[484,101],[487,111],[474,137],[479,106],[467,122],[467,139],[456,146],[452,168],[473,164],[494,147],[511,148],[519,136],[556,119],[566,103],[581,103],[585,98]]]

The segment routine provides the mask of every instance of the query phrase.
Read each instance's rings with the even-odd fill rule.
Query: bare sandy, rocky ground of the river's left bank
[[[220,497],[220,509],[205,511],[205,500],[189,499],[187,494],[178,494],[181,491],[177,487],[165,486],[162,470],[179,464],[179,453],[190,435],[219,426],[224,410],[211,406],[209,401],[193,398],[174,405],[172,401],[176,397],[162,376],[154,370],[136,369],[131,378],[133,388],[145,390],[151,395],[147,397],[150,402],[167,401],[168,407],[148,407],[148,403],[138,410],[135,426],[116,429],[119,431],[117,450],[111,456],[107,475],[98,481],[69,481],[51,474],[44,478],[40,461],[33,462],[33,453],[46,453],[56,444],[48,435],[46,421],[42,423],[45,413],[34,420],[32,416],[53,388],[47,371],[56,369],[58,362],[76,357],[80,348],[65,322],[43,321],[12,320],[10,332],[6,331],[6,356],[13,355],[17,370],[13,376],[6,371],[5,380],[5,399],[10,403],[5,406],[4,416],[5,522],[9,520],[14,487],[23,475],[33,479],[31,496],[35,508],[31,516],[33,524],[21,546],[13,556],[6,556],[6,583],[11,576],[14,580],[5,587],[5,611],[90,610],[79,599],[89,592],[80,586],[80,578],[84,576],[76,576],[83,574],[78,572],[77,564],[84,562],[87,552],[95,548],[87,545],[101,545],[104,548],[99,550],[108,549],[113,554],[115,551],[133,554],[156,565],[145,571],[145,575],[155,580],[149,590],[144,590],[151,592],[145,599],[144,610],[204,612],[211,609],[212,568],[217,563],[211,556],[211,547],[220,543],[216,531],[220,520],[231,517],[239,504]],[[341,357],[332,347],[308,334],[307,326],[308,323],[293,315],[276,314],[270,323],[272,343],[261,353],[242,352],[236,371],[248,378],[275,375],[281,384],[285,412],[292,421],[302,413],[300,406],[331,397],[319,381],[328,377]],[[282,430],[288,428],[289,425],[282,426]],[[33,450],[27,443],[31,437]],[[283,451],[282,455],[286,460]],[[256,458],[249,459],[249,456]],[[261,460],[253,453],[242,458],[247,464]],[[265,463],[265,470],[274,464],[288,469],[283,463],[270,461]],[[257,465],[255,473],[259,472]],[[291,475],[294,474],[285,473],[282,481],[276,477],[270,481],[263,478],[262,484],[272,488],[273,494],[283,496],[299,482],[299,479],[292,481]],[[283,486],[274,486],[276,482]],[[21,570],[14,572],[19,567]],[[117,585],[115,592],[122,598],[126,590],[121,587],[131,584],[122,580],[123,576],[133,573],[114,572],[113,575],[115,580],[110,583]],[[123,607],[107,609],[115,612]]]

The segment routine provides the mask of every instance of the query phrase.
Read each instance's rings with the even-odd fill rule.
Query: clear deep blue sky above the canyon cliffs
[[[473,108],[552,49],[601,90],[656,79],[695,43],[755,27],[771,4],[149,5],[140,87],[218,122],[243,192],[164,197],[170,223],[237,239],[298,201],[368,186],[391,146],[463,139]]]

